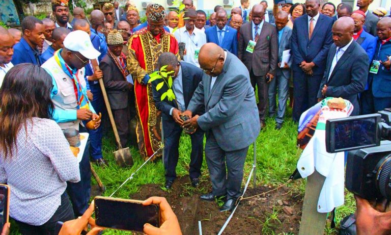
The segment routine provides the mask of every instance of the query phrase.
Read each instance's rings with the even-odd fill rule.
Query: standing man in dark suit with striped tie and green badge
[[[250,81],[258,87],[258,111],[261,128],[266,126],[269,82],[273,80],[278,62],[278,36],[275,27],[263,20],[265,8],[254,5],[252,21],[240,28],[238,58],[247,67]]]

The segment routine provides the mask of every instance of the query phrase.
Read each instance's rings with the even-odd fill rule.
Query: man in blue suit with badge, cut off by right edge
[[[391,17],[377,23],[377,42],[368,82],[372,85],[371,99],[365,103],[365,112],[374,113],[391,107]],[[378,68],[378,69],[377,69]],[[377,71],[377,72],[376,72]]]

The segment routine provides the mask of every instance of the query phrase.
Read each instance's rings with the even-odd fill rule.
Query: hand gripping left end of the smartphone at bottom
[[[95,220],[91,217],[93,212],[94,201],[91,202],[90,207],[81,217],[65,222],[61,227],[59,235],[79,235],[82,230],[86,230],[87,224],[90,224],[92,228],[87,235],[98,234],[103,228],[96,226]]]

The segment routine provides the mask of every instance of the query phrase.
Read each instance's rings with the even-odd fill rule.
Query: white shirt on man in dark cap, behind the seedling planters
[[[186,55],[183,57],[183,60],[187,63],[200,67],[198,59],[195,59],[195,50],[200,49],[201,46],[206,44],[206,35],[201,30],[194,27],[193,32],[189,35],[186,27],[182,27],[175,31],[175,38],[179,42],[186,43]]]

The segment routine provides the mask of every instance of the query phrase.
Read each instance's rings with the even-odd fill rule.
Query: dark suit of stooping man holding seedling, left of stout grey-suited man
[[[184,98],[185,110],[189,105],[190,99],[193,96],[195,89],[197,89],[199,83],[202,81],[204,72],[189,63],[180,62],[181,73],[182,73],[182,91]],[[178,77],[176,79],[179,79]],[[172,108],[179,109],[176,100],[170,101],[165,98],[163,101],[160,100],[161,95],[168,90],[168,86],[164,83],[163,87],[156,90],[157,84],[161,83],[162,80],[155,80],[152,82],[153,99],[155,100],[155,106],[162,113],[162,124],[164,132],[164,169],[166,180],[174,180],[176,178],[175,168],[178,164],[179,158],[179,139],[182,133],[182,127],[176,123],[173,117],[170,115]],[[174,86],[174,83],[173,83]],[[181,110],[182,112],[185,110]],[[202,115],[205,109],[201,109],[198,115]],[[194,115],[195,115],[194,114]],[[191,138],[191,153],[190,153],[190,164],[189,164],[189,175],[190,179],[198,178],[201,175],[201,166],[203,160],[203,140],[204,131],[201,128],[190,135]]]

